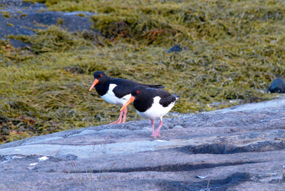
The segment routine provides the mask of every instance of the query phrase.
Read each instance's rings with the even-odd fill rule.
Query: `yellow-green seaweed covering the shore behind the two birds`
[[[98,70],[165,85],[180,113],[274,98],[265,91],[285,74],[282,1],[41,2],[93,11],[105,37],[51,26],[11,36],[31,44],[24,50],[1,41],[0,143],[116,120],[120,107],[88,92]],[[177,43],[187,51],[166,52]],[[130,107],[127,119],[138,118]]]

